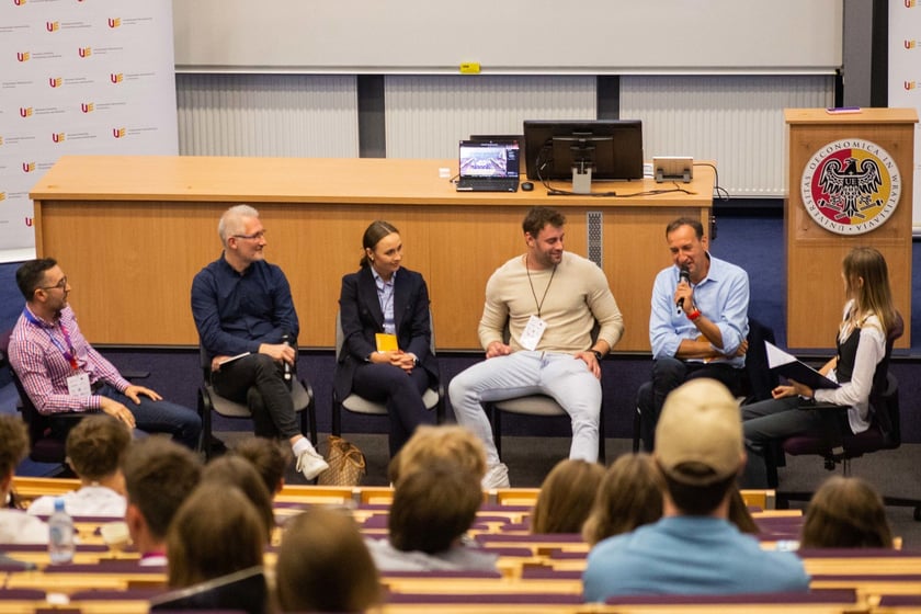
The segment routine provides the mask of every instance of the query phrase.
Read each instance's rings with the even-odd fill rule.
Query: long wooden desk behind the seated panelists
[[[56,258],[93,343],[196,345],[192,277],[220,255],[217,220],[250,203],[268,229],[266,255],[291,281],[303,348],[333,345],[342,275],[357,270],[374,219],[401,232],[405,264],[429,283],[439,349],[480,350],[477,323],[489,275],[523,253],[533,205],[562,209],[566,248],[585,254],[588,212],[600,212],[601,253],[624,314],[619,351],[649,350],[649,297],[669,265],[666,225],[679,216],[709,228],[714,173],[697,167],[680,192],[627,197],[457,193],[439,178],[456,161],[401,159],[65,156],[30,195],[37,253]],[[609,190],[612,184],[600,184]],[[618,184],[621,194],[670,187]]]

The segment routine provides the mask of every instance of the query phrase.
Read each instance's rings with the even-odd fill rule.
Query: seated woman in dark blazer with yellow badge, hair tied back
[[[393,456],[416,427],[434,422],[422,402],[425,389],[439,380],[439,364],[430,351],[429,288],[422,275],[400,265],[402,241],[393,225],[372,223],[362,246],[361,269],[342,277],[344,341],[333,387],[339,399],[355,393],[387,406]],[[399,349],[378,351],[377,333],[396,336]]]

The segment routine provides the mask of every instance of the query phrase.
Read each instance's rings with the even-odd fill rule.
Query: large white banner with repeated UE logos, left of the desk
[[[171,0],[0,0],[0,262],[60,156],[178,154],[172,41]]]

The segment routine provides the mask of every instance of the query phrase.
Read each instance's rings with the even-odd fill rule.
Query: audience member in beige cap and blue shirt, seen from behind
[[[666,481],[663,518],[595,545],[582,577],[587,601],[809,589],[796,555],[761,549],[727,519],[746,454],[739,406],[723,384],[700,378],[672,390],[655,459]]]

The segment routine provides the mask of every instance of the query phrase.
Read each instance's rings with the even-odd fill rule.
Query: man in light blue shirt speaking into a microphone
[[[738,391],[748,351],[748,273],[710,255],[697,219],[675,219],[666,228],[666,240],[673,264],[659,272],[652,286],[652,382],[637,393],[647,452],[653,448],[668,394],[696,377]]]

